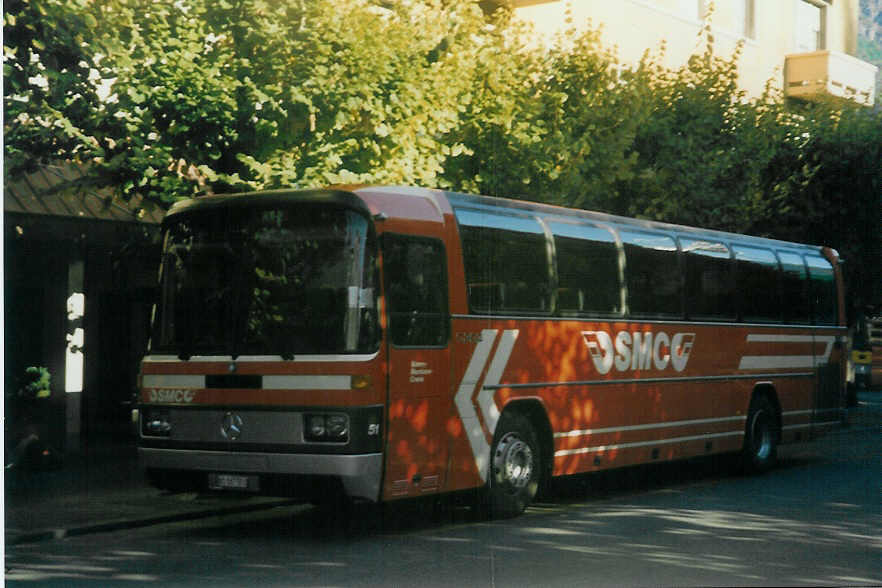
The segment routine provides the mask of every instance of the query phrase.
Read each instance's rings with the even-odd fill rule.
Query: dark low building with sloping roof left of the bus
[[[30,433],[59,452],[129,434],[162,211],[71,189],[81,174],[49,165],[4,181],[7,463]],[[22,402],[28,368],[44,369],[50,384],[45,398]]]

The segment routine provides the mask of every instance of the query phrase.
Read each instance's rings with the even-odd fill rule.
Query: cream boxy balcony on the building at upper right
[[[785,56],[784,92],[791,98],[835,96],[872,106],[878,68],[837,51]]]

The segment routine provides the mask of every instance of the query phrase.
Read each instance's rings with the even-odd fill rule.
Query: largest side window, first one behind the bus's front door
[[[548,312],[549,253],[539,221],[472,209],[456,217],[472,311]]]

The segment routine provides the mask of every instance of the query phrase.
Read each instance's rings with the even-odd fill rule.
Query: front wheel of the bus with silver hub
[[[512,411],[502,415],[490,458],[490,516],[521,514],[536,496],[542,472],[539,442],[524,415]]]

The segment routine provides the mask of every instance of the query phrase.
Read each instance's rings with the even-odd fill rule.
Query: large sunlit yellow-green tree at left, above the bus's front
[[[71,61],[82,64],[71,74],[79,86],[50,75],[46,91],[7,91],[10,171],[77,159],[95,182],[155,201],[364,181],[436,185],[444,162],[464,152],[449,135],[479,64],[513,50],[466,0],[31,0],[13,6],[10,20],[31,23],[33,50],[21,35],[7,47],[20,80],[33,77],[34,63],[53,71],[44,62],[54,45],[74,48]],[[70,38],[38,46],[68,22],[77,23]],[[75,94],[88,95],[87,107],[70,108]]]

